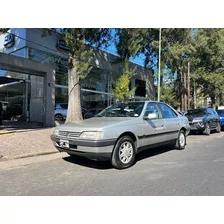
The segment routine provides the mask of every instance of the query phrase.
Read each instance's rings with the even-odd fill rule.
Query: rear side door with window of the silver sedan
[[[166,141],[177,139],[180,130],[178,114],[165,103],[159,103],[166,126]]]

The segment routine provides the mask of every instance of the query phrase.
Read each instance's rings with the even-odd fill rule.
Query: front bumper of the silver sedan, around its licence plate
[[[59,152],[67,152],[69,154],[83,156],[94,160],[110,159],[116,143],[116,139],[90,141],[76,140],[55,135],[51,135],[51,140]],[[67,140],[69,142],[69,147],[61,147],[60,140]]]

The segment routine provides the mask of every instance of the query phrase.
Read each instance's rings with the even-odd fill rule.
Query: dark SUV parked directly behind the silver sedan
[[[221,131],[219,115],[212,108],[187,110],[185,116],[189,120],[191,132],[198,131],[210,135],[211,130]]]

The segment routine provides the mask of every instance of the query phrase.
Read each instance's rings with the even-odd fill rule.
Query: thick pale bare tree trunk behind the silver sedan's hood
[[[82,120],[80,83],[76,69],[77,60],[70,56],[68,66],[68,113],[65,123]]]

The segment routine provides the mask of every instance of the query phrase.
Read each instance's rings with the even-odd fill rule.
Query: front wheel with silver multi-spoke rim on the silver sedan
[[[123,136],[118,139],[114,146],[111,156],[111,164],[114,168],[125,169],[134,164],[135,156],[136,146],[134,141],[129,136]]]

